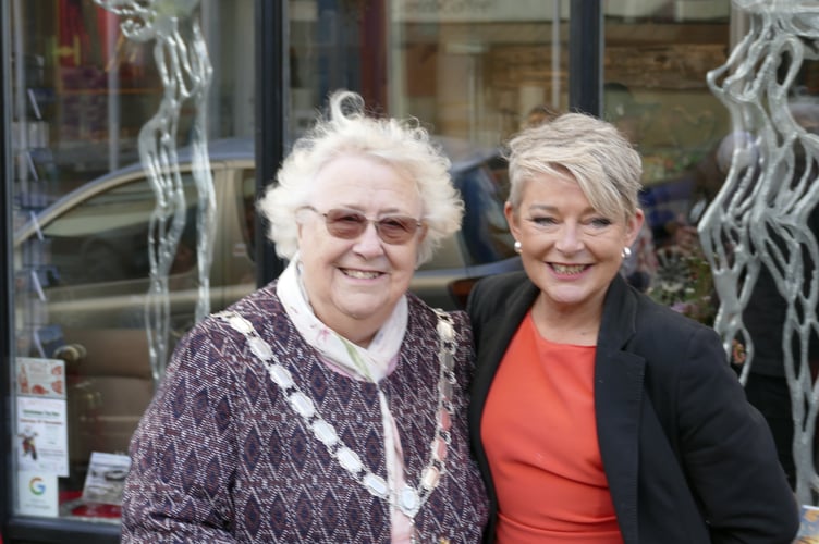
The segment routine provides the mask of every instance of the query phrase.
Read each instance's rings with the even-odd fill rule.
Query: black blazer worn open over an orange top
[[[469,431],[492,506],[488,542],[498,497],[481,415],[506,346],[538,294],[524,272],[513,272],[481,280],[467,305],[478,354]],[[798,506],[770,431],[746,401],[719,336],[620,276],[603,302],[595,411],[626,544],[793,542]]]

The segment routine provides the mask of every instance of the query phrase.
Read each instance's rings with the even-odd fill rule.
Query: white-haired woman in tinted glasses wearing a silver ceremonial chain
[[[460,226],[417,123],[334,94],[259,203],[290,260],[196,325],[131,443],[123,542],[475,542],[472,335],[407,293]]]

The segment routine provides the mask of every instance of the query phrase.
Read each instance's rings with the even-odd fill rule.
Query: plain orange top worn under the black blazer
[[[623,542],[597,443],[595,350],[542,338],[529,312],[503,356],[481,420],[500,544]]]

